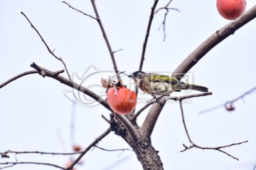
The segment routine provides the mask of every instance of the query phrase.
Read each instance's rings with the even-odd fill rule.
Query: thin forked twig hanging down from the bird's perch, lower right
[[[186,135],[188,137],[188,141],[191,143],[191,146],[187,147],[186,145],[183,144],[183,147],[185,149],[181,150],[181,152],[184,152],[186,151],[187,149],[191,149],[193,147],[196,147],[198,149],[214,149],[214,150],[217,150],[219,152],[223,152],[224,154],[227,154],[229,157],[233,157],[233,159],[237,159],[239,161],[238,158],[232,156],[231,154],[228,154],[228,152],[225,152],[223,151],[222,149],[225,148],[225,147],[232,147],[234,145],[241,145],[242,143],[245,143],[245,142],[248,142],[248,140],[244,141],[244,142],[238,142],[238,143],[233,143],[233,144],[230,144],[230,145],[224,145],[224,146],[220,146],[220,147],[201,147],[201,146],[198,146],[196,145],[192,140],[191,140],[191,137],[188,133],[188,128],[186,127],[186,121],[185,121],[185,117],[184,117],[184,112],[183,112],[183,106],[182,106],[182,99],[179,99],[178,100],[179,103],[180,103],[180,108],[181,108],[181,117],[182,117],[182,123],[183,123],[183,126],[184,126],[184,129],[185,129],[185,132],[186,132]]]

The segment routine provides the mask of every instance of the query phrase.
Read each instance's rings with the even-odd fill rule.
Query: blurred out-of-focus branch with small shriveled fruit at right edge
[[[238,96],[237,98],[234,98],[231,101],[226,101],[223,104],[220,104],[218,106],[214,106],[213,108],[208,108],[206,110],[200,111],[199,113],[206,113],[206,112],[213,111],[213,110],[215,110],[217,108],[222,108],[222,107],[225,107],[227,109],[227,111],[233,111],[235,109],[235,107],[233,106],[233,103],[235,103],[236,101],[239,101],[240,99],[244,98],[248,94],[251,94],[252,91],[255,91],[255,90],[256,90],[256,86],[254,88],[250,89],[249,91],[246,91],[241,96]]]

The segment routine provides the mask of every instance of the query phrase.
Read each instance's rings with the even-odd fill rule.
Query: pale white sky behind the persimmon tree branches
[[[95,16],[90,1],[67,1],[74,7]],[[158,8],[168,1],[159,1]],[[127,73],[137,71],[142,44],[154,1],[96,1],[102,23],[115,53],[118,69]],[[247,9],[255,1],[247,0]],[[161,11],[151,26],[145,72],[173,72],[198,45],[230,21],[222,18],[215,1],[173,1],[166,19],[166,41],[159,26],[164,19]],[[0,1],[0,83],[16,74],[32,70],[36,64],[52,71],[63,69],[31,28],[26,18],[43,35],[55,55],[63,58],[71,74],[82,78],[91,66],[112,71],[107,45],[95,20],[73,11],[60,1]],[[159,150],[164,169],[253,169],[256,164],[255,93],[235,103],[235,111],[224,108],[198,114],[199,111],[225,103],[255,86],[256,21],[236,31],[220,42],[191,69],[193,82],[207,86],[213,96],[193,98],[184,103],[186,123],[191,138],[203,147],[217,147],[249,140],[248,143],[226,148],[240,161],[217,151],[190,149],[180,152],[182,144],[189,145],[181,122],[178,103],[164,107],[156,123],[152,144]],[[62,74],[66,77],[66,74]],[[90,77],[87,85],[99,84],[101,77]],[[107,78],[107,75],[105,75]],[[129,79],[124,79],[130,84]],[[93,87],[92,87],[93,88]],[[109,111],[102,106],[84,106],[68,99],[64,91],[70,88],[37,74],[18,79],[0,89],[0,152],[17,151],[71,152],[70,115],[75,112],[75,143],[87,147],[105,132]],[[190,94],[196,93],[195,91]],[[178,95],[178,94],[177,94]],[[139,94],[140,98],[144,95]],[[137,108],[144,103],[139,103]],[[147,111],[147,110],[146,110]],[[139,124],[146,111],[139,117]],[[121,137],[110,135],[99,143],[106,149],[129,148]],[[82,159],[78,169],[142,169],[133,152],[105,152],[94,149]],[[63,166],[68,156],[17,155],[18,161],[52,162]],[[0,162],[15,161],[0,159]],[[17,165],[11,169],[55,169],[50,166]]]

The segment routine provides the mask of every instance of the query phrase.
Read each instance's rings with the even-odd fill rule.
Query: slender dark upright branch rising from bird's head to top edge
[[[149,32],[150,32],[150,28],[151,28],[151,23],[152,23],[153,18],[154,18],[154,10],[156,8],[157,3],[158,3],[158,0],[154,0],[154,5],[151,8],[151,13],[150,13],[150,16],[149,16],[149,23],[148,23],[148,27],[146,28],[146,36],[145,36],[145,40],[144,40],[143,48],[142,48],[142,58],[141,58],[141,61],[140,61],[140,64],[139,64],[139,71],[142,71],[143,62],[145,60],[146,43],[149,39]]]

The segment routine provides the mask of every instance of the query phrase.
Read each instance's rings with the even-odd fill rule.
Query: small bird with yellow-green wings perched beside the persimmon
[[[128,77],[134,79],[135,83],[146,94],[155,95],[168,95],[173,91],[181,91],[193,89],[196,91],[208,92],[205,86],[198,86],[195,84],[186,84],[173,77],[169,77],[156,73],[145,73],[141,71],[133,72]]]

